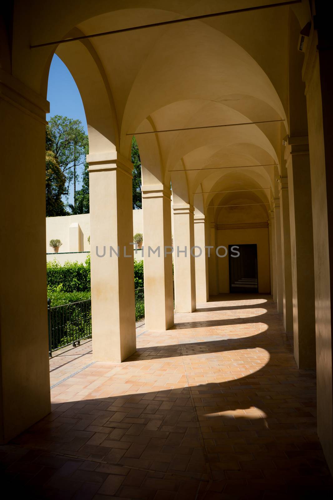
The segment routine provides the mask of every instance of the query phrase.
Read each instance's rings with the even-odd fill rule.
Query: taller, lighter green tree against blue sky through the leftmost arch
[[[76,182],[79,179],[79,166],[85,164],[85,155],[88,147],[88,136],[80,120],[56,114],[48,122],[52,151],[58,165],[66,176],[66,190],[73,183],[74,206],[76,206]]]

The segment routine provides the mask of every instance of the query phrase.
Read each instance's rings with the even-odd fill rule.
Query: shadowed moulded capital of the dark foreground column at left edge
[[[0,98],[47,125],[50,103],[32,88],[0,68]]]

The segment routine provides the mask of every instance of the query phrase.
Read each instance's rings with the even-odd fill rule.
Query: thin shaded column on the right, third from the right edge
[[[283,322],[286,331],[293,331],[292,255],[290,246],[289,194],[287,177],[280,178],[279,191],[281,206]]]

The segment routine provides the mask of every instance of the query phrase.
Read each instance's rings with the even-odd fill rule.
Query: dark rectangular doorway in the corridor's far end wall
[[[235,251],[238,257],[232,256]],[[228,254],[230,293],[258,293],[257,245],[229,245]]]

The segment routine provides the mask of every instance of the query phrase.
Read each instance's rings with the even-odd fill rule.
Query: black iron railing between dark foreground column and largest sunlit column
[[[51,307],[47,299],[48,351],[52,352],[72,344],[80,345],[80,340],[91,337],[91,299]]]

